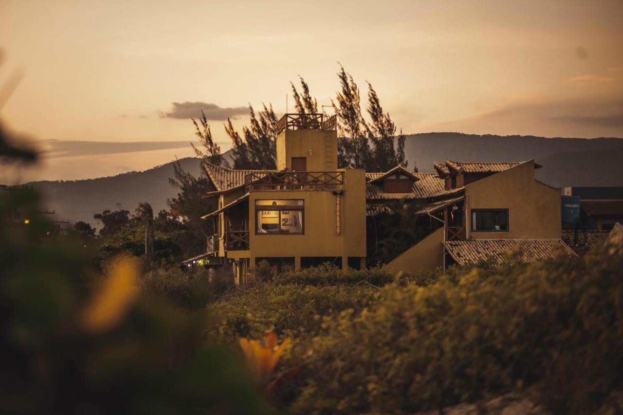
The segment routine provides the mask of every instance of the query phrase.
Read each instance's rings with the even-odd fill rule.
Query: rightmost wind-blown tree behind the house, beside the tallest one
[[[381,102],[372,84],[368,82],[368,107],[366,108],[371,122],[364,124],[368,133],[368,140],[372,143],[372,156],[366,169],[373,171],[388,171],[401,165],[407,166],[404,160],[405,136],[402,130],[397,140],[397,149],[394,147],[396,125],[392,122],[389,113],[383,112]]]

